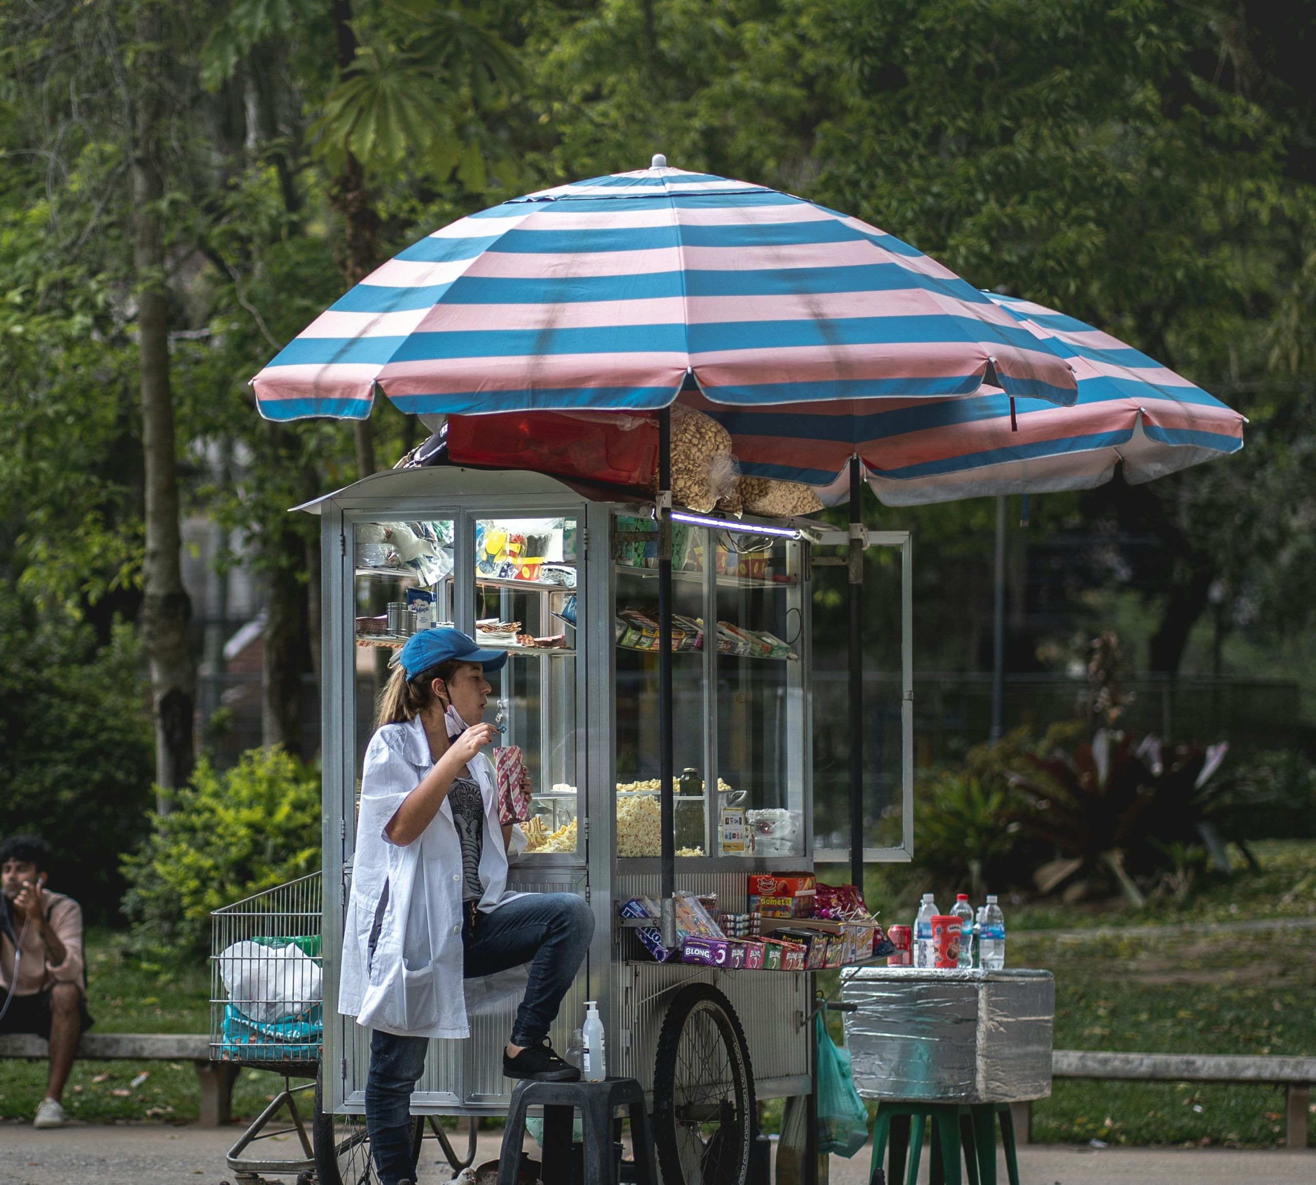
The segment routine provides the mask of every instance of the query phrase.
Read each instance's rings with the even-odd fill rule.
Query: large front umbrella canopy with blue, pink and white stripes
[[[375,391],[417,413],[644,411],[697,386],[721,407],[826,407],[838,436],[815,460],[836,474],[874,400],[986,382],[1074,402],[1046,334],[908,244],[654,159],[409,246],[255,377],[261,413],[359,419]]]

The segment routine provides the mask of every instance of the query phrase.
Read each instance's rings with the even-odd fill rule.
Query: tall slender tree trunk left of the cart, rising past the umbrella
[[[137,279],[137,334],[141,354],[142,457],[145,469],[146,554],[142,562],[142,641],[151,669],[155,715],[155,779],[159,810],[167,791],[192,773],[192,716],[196,668],[188,648],[191,602],[183,587],[179,533],[178,458],[168,362],[168,294],[159,203],[164,194],[159,126],[163,116],[164,55],[162,17],[143,5],[137,22],[138,54],[133,113],[133,269]]]

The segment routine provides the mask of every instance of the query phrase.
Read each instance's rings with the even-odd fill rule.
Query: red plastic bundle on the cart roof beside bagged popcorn
[[[646,486],[658,467],[658,424],[650,416],[499,412],[449,416],[454,465],[533,469],[613,486]]]

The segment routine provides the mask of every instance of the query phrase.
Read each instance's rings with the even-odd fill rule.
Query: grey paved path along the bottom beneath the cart
[[[91,1181],[132,1185],[220,1185],[233,1174],[224,1153],[237,1130],[161,1126],[78,1126],[34,1131],[26,1124],[0,1124],[0,1176],[5,1185],[86,1185]],[[497,1134],[480,1135],[482,1159],[497,1155]],[[426,1144],[426,1149],[432,1148]],[[283,1155],[279,1146],[276,1155]],[[291,1143],[287,1151],[292,1152]],[[446,1168],[425,1157],[421,1185],[447,1180]],[[867,1185],[867,1155],[832,1159],[830,1185]],[[1066,1148],[1020,1149],[1021,1185],[1312,1185],[1316,1151],[1233,1152],[1216,1148]],[[926,1181],[926,1167],[923,1181]],[[1004,1165],[999,1180],[1004,1182]],[[292,1178],[284,1178],[291,1185]]]

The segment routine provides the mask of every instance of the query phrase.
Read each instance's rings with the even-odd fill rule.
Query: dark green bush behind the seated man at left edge
[[[154,748],[133,631],[108,646],[0,586],[0,827],[54,849],[50,887],[116,920],[118,856],[147,832]]]

